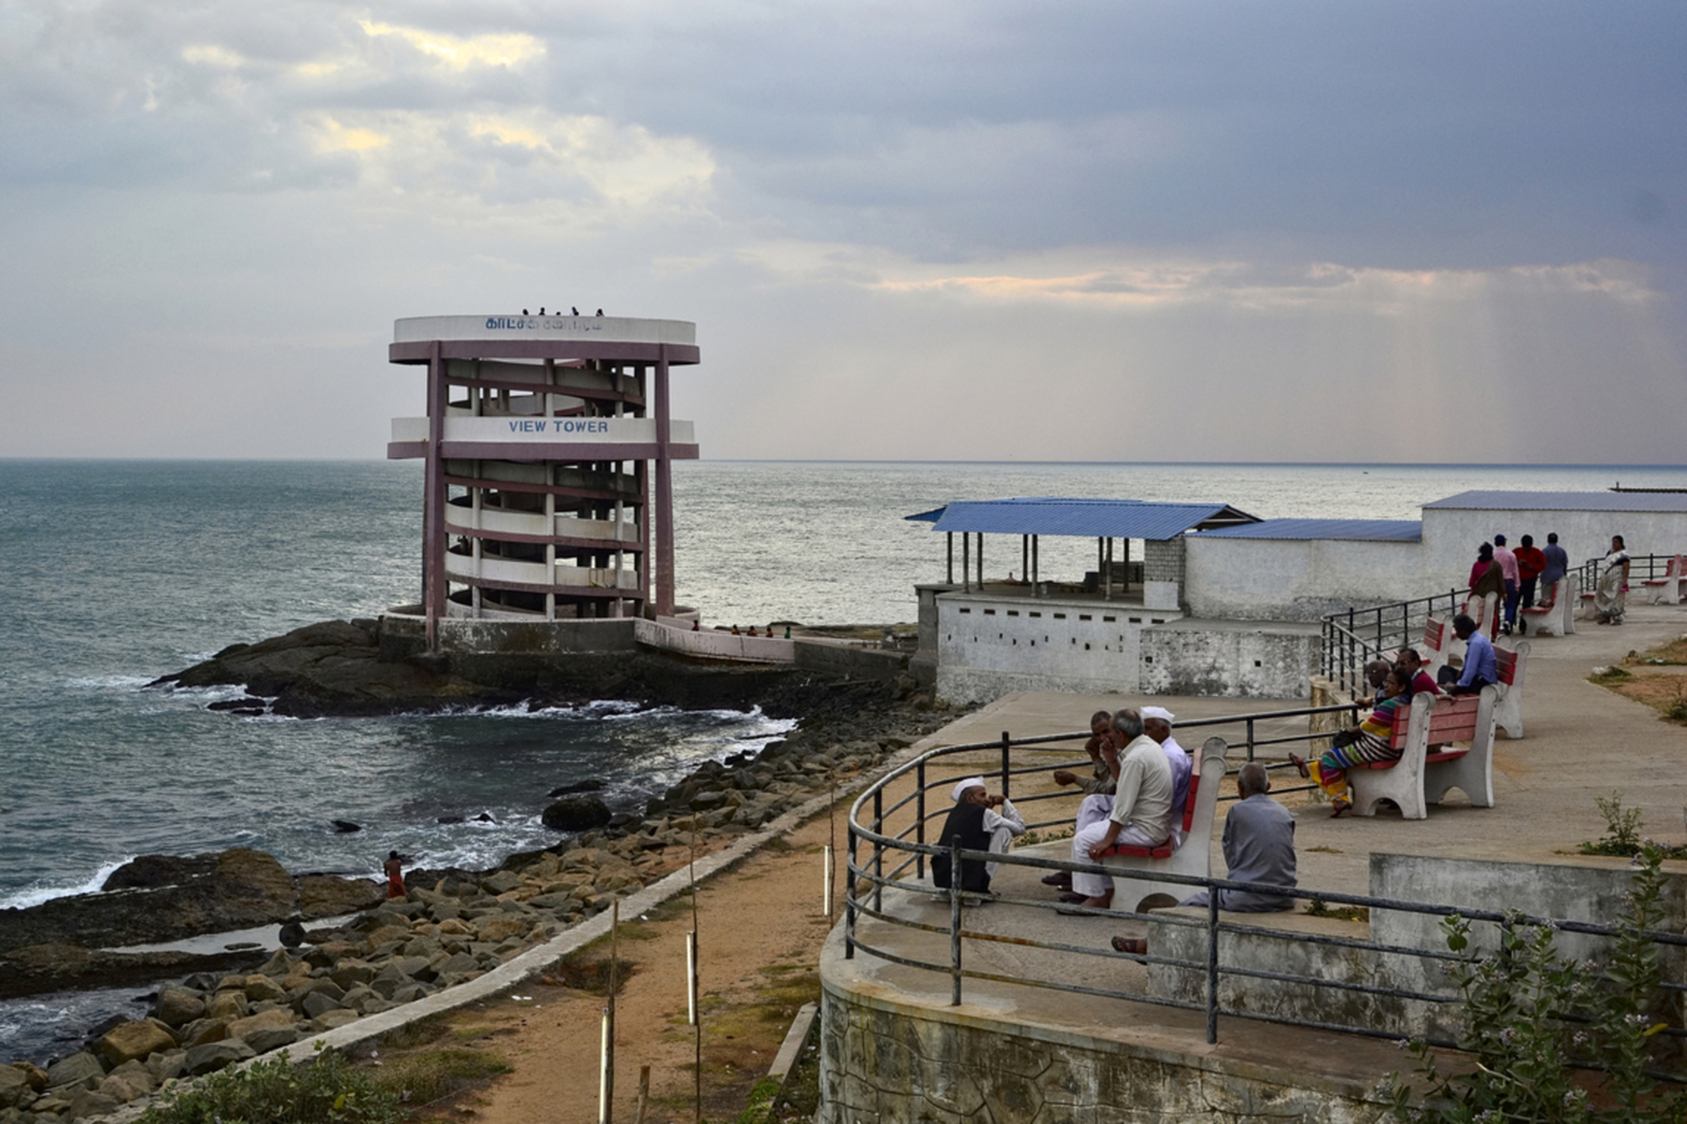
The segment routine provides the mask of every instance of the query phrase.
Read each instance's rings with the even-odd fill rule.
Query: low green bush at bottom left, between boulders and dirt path
[[[138,1124],[398,1124],[398,1099],[344,1056],[322,1051],[294,1065],[265,1058],[213,1073],[167,1095]]]

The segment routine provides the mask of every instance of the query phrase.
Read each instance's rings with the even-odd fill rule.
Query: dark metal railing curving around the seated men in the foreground
[[[1312,717],[1316,714],[1328,714],[1334,711],[1351,711],[1351,707],[1306,707],[1299,711],[1272,711],[1260,714],[1238,714],[1215,719],[1199,719],[1189,722],[1179,722],[1178,729],[1186,731],[1193,726],[1218,727],[1233,726],[1243,732],[1247,741],[1247,758],[1253,759],[1253,749],[1257,746],[1284,744],[1289,741],[1311,741],[1321,734],[1307,732],[1297,738],[1287,736],[1267,736],[1253,739],[1257,724],[1260,722],[1280,722],[1292,717]],[[1076,768],[1086,766],[1088,761],[1073,761],[1064,765],[1051,765],[1048,761],[1038,761],[1036,765],[1026,765],[1024,759],[1016,761],[1016,751],[1027,751],[1034,748],[1053,748],[1056,743],[1081,741],[1086,732],[1073,734],[1049,734],[1038,738],[1012,738],[1009,732],[1002,732],[1000,741],[980,741],[968,743],[962,746],[945,746],[941,749],[933,749],[921,754],[919,758],[892,770],[886,776],[879,778],[872,786],[869,786],[850,807],[849,813],[849,842],[847,842],[847,891],[845,891],[845,959],[854,959],[857,952],[899,964],[911,969],[923,969],[935,974],[948,975],[950,979],[950,1004],[960,1006],[963,999],[963,982],[968,979],[987,981],[999,984],[1019,984],[1038,989],[1049,989],[1058,992],[1071,992],[1081,996],[1095,996],[1103,999],[1120,999],[1129,1002],[1147,1002],[1164,1008],[1179,1008],[1188,1011],[1201,1011],[1206,1016],[1206,1041],[1218,1041],[1218,1019],[1240,1018],[1255,1019],[1284,1026],[1299,1026],[1319,1031],[1339,1031],[1361,1035],[1366,1038],[1385,1038],[1385,1040],[1404,1040],[1404,1038],[1424,1038],[1436,1046],[1456,1048],[1458,1043],[1447,1035],[1426,1033],[1424,1023],[1427,1016],[1410,1016],[1407,1021],[1415,1021],[1419,1024],[1356,1024],[1339,1021],[1338,1016],[1329,1018],[1301,1018],[1285,1013],[1270,1013],[1259,1008],[1269,1004],[1253,1004],[1253,1009],[1243,1009],[1237,1006],[1226,1006],[1221,1001],[1220,982],[1226,977],[1260,981],[1267,984],[1323,989],[1316,994],[1324,994],[1324,991],[1334,996],[1368,996],[1373,999],[1395,999],[1414,1004],[1422,1004],[1424,1011],[1446,1008],[1447,1004],[1459,1004],[1461,997],[1451,987],[1442,992],[1424,991],[1414,987],[1395,987],[1382,982],[1360,982],[1356,979],[1331,979],[1329,975],[1307,975],[1299,972],[1279,972],[1265,970],[1264,967],[1248,967],[1247,964],[1226,962],[1221,954],[1223,945],[1220,943],[1221,933],[1230,933],[1235,937],[1248,937],[1257,940],[1280,940],[1289,943],[1311,943],[1323,945],[1329,948],[1348,948],[1360,954],[1375,954],[1378,957],[1405,957],[1431,964],[1444,964],[1458,960],[1459,957],[1444,948],[1424,948],[1412,945],[1385,943],[1373,938],[1356,938],[1341,937],[1331,933],[1307,933],[1296,930],[1275,930],[1267,925],[1250,925],[1225,920],[1220,916],[1218,908],[1218,891],[1252,891],[1252,893],[1270,893],[1292,898],[1297,901],[1318,900],[1336,906],[1355,906],[1361,910],[1377,911],[1397,911],[1409,915],[1426,915],[1426,916],[1453,916],[1458,915],[1469,921],[1491,923],[1505,928],[1513,927],[1532,927],[1532,925],[1550,925],[1552,928],[1564,933],[1576,933],[1593,938],[1611,938],[1618,935],[1618,928],[1608,925],[1596,925],[1582,920],[1566,920],[1566,918],[1540,918],[1522,915],[1515,911],[1496,911],[1485,908],[1468,908],[1451,903],[1424,903],[1424,901],[1402,901],[1392,898],[1378,898],[1366,894],[1345,894],[1321,889],[1304,889],[1291,886],[1269,886],[1262,883],[1242,883],[1226,878],[1194,878],[1179,876],[1166,871],[1134,871],[1127,867],[1102,866],[1097,862],[1075,862],[1068,859],[1044,859],[1029,856],[1024,852],[1007,851],[1005,854],[995,854],[987,851],[972,851],[955,846],[940,846],[926,842],[926,825],[933,819],[946,817],[950,802],[943,798],[940,802],[938,812],[928,812],[926,793],[938,790],[945,792],[962,776],[977,775],[977,766],[963,773],[955,773],[953,776],[931,776],[931,768],[943,758],[955,754],[977,754],[980,751],[1000,751],[1000,770],[989,771],[985,776],[1000,778],[1000,788],[1004,795],[1011,793],[1012,778],[1024,776],[1027,773],[1046,773],[1054,768]],[[1280,768],[1287,763],[1277,763]],[[1272,766],[1269,766],[1272,768]],[[1226,771],[1228,775],[1228,771]],[[894,802],[887,803],[886,797],[892,785],[899,781],[911,781],[913,792],[901,795]],[[1021,797],[1016,803],[1027,805],[1043,800],[1073,800],[1073,792],[1051,792],[1051,793],[1034,793]],[[1081,793],[1080,793],[1081,795]],[[904,822],[906,820],[906,822]],[[894,822],[894,825],[892,825]],[[1027,822],[1027,830],[1070,825],[1073,819],[1061,817],[1053,820],[1043,820],[1039,824]],[[1210,840],[1194,840],[1193,846],[1208,846]],[[860,859],[859,849],[869,847],[865,859]],[[926,861],[935,856],[948,856],[950,871],[955,876],[950,879],[951,886],[946,894],[948,901],[948,923],[933,925],[918,920],[918,913],[913,910],[904,910],[897,913],[894,908],[886,910],[884,894],[886,891],[894,893],[918,893],[923,898],[933,894],[931,883],[924,881]],[[1184,927],[1203,930],[1205,942],[1198,942],[1205,948],[1201,959],[1179,959],[1176,955],[1154,955],[1132,954],[1132,952],[1115,952],[1108,948],[1098,948],[1090,945],[1078,945],[1068,942],[1051,942],[1038,940],[1032,937],[984,932],[980,928],[965,928],[962,906],[970,905],[978,900],[989,900],[995,906],[1005,908],[1026,908],[1026,910],[1061,910],[1066,913],[1088,915],[1088,916],[1105,916],[1117,920],[1147,920],[1149,913],[1139,913],[1134,910],[1098,910],[1073,905],[1058,905],[1048,900],[1029,900],[1029,898],[1007,898],[1000,894],[978,894],[972,891],[960,889],[960,871],[965,861],[987,861],[994,864],[1002,864],[1005,867],[1031,867],[1034,871],[1068,871],[1068,873],[1086,873],[1086,874],[1105,874],[1113,879],[1137,879],[1137,881],[1156,881],[1188,886],[1191,893],[1205,889],[1208,891],[1206,916],[1201,920],[1179,915],[1156,915],[1152,920],[1156,925],[1162,927]],[[889,866],[889,869],[886,869]],[[999,908],[992,908],[992,915],[1000,916]],[[948,957],[946,962],[921,960],[918,955],[904,955],[892,947],[887,947],[887,940],[879,935],[869,935],[864,938],[860,932],[862,920],[881,921],[896,928],[903,928],[916,933],[933,933],[948,937]],[[1164,930],[1162,930],[1164,932]],[[1647,937],[1658,945],[1687,948],[1687,937],[1680,933],[1668,932],[1648,932]],[[963,942],[995,942],[1027,948],[1041,948],[1054,954],[1071,955],[1076,960],[1071,964],[1071,970],[1063,970],[1058,979],[1036,979],[1024,974],[1005,974],[980,970],[967,964],[965,943]],[[1660,950],[1662,952],[1662,950]],[[1091,965],[1107,960],[1130,960],[1144,965],[1159,965],[1161,969],[1178,970],[1194,975],[1186,975],[1184,979],[1199,979],[1205,987],[1205,994],[1199,1001],[1181,999],[1176,994],[1147,994],[1147,991],[1124,991],[1110,987],[1091,987],[1085,984],[1071,982],[1075,979],[1093,979],[1095,970]],[[1684,959],[1675,954],[1665,964],[1682,964]],[[1680,972],[1672,970],[1668,977],[1679,977]],[[1372,975],[1363,975],[1365,981],[1373,981]],[[1680,997],[1687,992],[1687,984],[1668,982],[1662,984],[1663,991],[1675,992]],[[1176,991],[1176,989],[1172,989]],[[1188,991],[1188,987],[1184,989]],[[1339,1008],[1341,1004],[1331,1004]],[[1675,1004],[1680,1006],[1680,1004]],[[1658,1031],[1660,1036],[1670,1040],[1687,1040],[1687,1029],[1679,1024],[1665,1026]],[[1680,1060],[1682,1050],[1675,1050],[1672,1056],[1675,1062],[1672,1068],[1658,1068],[1657,1075],[1670,1080],[1687,1080],[1687,1060]]]

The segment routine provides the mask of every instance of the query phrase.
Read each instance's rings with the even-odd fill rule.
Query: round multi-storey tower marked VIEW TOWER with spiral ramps
[[[671,462],[698,447],[668,376],[700,359],[695,324],[413,317],[388,358],[427,368],[427,415],[393,419],[386,456],[427,462],[430,648],[440,621],[673,614]]]

